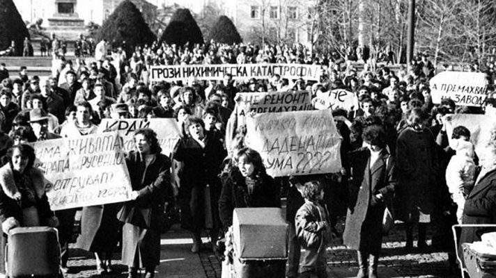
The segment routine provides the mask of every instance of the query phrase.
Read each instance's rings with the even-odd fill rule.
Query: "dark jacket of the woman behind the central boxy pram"
[[[231,171],[222,183],[219,198],[219,214],[224,229],[233,224],[234,208],[281,207],[279,186],[268,174],[261,174],[249,195],[245,177],[236,167]]]

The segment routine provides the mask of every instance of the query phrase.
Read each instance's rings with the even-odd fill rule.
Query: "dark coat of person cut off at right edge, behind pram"
[[[496,170],[482,177],[468,195],[463,209],[463,224],[496,224]],[[495,230],[495,228],[463,228],[460,243],[480,241],[482,234]]]

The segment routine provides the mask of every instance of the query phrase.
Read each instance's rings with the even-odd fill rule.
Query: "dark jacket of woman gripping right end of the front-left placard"
[[[138,227],[159,229],[160,217],[164,212],[166,190],[171,186],[171,161],[163,154],[146,166],[139,152],[131,151],[126,158],[132,190],[137,190],[136,200],[126,202],[118,213],[118,220]]]

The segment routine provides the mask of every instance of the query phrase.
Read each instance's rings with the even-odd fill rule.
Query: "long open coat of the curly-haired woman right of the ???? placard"
[[[373,253],[382,243],[382,217],[394,196],[396,165],[385,149],[373,165],[370,157],[365,148],[350,153],[352,180],[343,242],[350,249]],[[375,197],[378,194],[383,198]]]

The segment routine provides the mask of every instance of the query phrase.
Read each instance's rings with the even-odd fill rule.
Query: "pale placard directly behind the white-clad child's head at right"
[[[454,140],[451,139],[456,126],[465,126],[470,131],[470,142],[474,144],[477,156],[483,156],[488,148],[491,133],[496,129],[496,119],[489,115],[479,114],[454,114],[444,116],[446,133],[451,149],[455,149]]]

